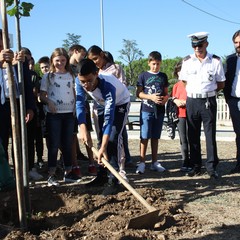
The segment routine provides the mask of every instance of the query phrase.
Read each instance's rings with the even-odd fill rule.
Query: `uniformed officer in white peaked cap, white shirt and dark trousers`
[[[207,52],[208,33],[188,35],[194,53],[185,57],[179,79],[186,81],[187,122],[190,144],[190,162],[193,170],[188,176],[201,174],[201,124],[203,123],[207,160],[206,170],[210,178],[218,178],[216,146],[216,93],[224,88],[225,75],[221,59]]]

